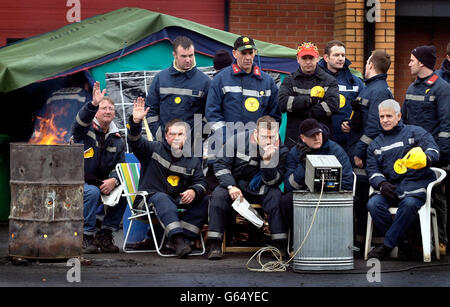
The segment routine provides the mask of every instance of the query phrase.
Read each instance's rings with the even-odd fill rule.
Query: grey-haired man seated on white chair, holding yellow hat
[[[372,249],[369,258],[381,260],[401,242],[425,203],[427,185],[436,179],[429,166],[439,160],[439,148],[423,128],[403,124],[397,101],[383,101],[378,112],[383,130],[367,150],[369,182],[378,191],[370,197],[367,208],[375,227],[384,235],[384,243]],[[414,147],[424,151],[422,164],[426,166],[404,171],[394,167]],[[398,206],[394,219],[388,211],[393,206]]]

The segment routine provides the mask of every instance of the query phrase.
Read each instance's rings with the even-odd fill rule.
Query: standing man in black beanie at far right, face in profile
[[[411,51],[408,66],[416,80],[408,87],[402,106],[406,124],[424,128],[439,145],[440,160],[436,166],[447,168],[450,162],[450,84],[433,72],[436,48],[419,46]],[[447,188],[447,191],[446,191]],[[446,254],[447,204],[450,186],[439,185],[433,194],[437,211],[440,253]]]

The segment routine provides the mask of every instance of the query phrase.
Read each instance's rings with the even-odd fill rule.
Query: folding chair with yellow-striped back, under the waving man
[[[122,197],[126,197],[128,207],[131,211],[131,216],[128,218],[130,221],[130,224],[128,226],[127,234],[125,236],[124,242],[123,242],[123,251],[125,253],[142,253],[142,252],[157,252],[160,256],[163,257],[172,257],[176,256],[175,253],[166,254],[161,251],[162,247],[164,246],[164,243],[167,239],[167,236],[164,235],[160,242],[158,242],[155,228],[153,226],[153,220],[158,221],[156,217],[156,213],[153,209],[153,204],[147,204],[146,196],[148,193],[146,191],[138,191],[139,186],[139,176],[140,176],[140,170],[141,166],[140,163],[118,163],[116,165],[116,171],[119,176],[120,183],[123,186],[123,194]],[[145,209],[139,210],[139,209],[133,209],[133,202],[137,195],[142,196],[144,199],[144,205]],[[128,241],[128,236],[130,234],[131,228],[133,227],[133,222],[136,220],[146,220],[149,223],[149,228],[152,233],[153,243],[155,245],[155,249],[150,250],[130,250],[127,249],[126,244]],[[190,256],[200,256],[205,253],[205,243],[203,241],[203,236],[200,233],[200,242],[202,249],[200,252],[192,252],[189,254]]]

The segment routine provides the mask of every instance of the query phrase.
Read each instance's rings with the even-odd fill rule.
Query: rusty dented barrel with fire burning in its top
[[[11,257],[80,256],[83,241],[83,145],[10,144]]]

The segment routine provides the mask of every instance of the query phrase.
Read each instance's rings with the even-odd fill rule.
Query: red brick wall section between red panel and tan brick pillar
[[[323,52],[333,39],[334,0],[231,0],[230,32],[297,48],[312,41]]]

